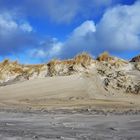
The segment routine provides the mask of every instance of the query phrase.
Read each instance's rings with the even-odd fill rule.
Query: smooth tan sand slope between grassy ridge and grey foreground
[[[140,96],[107,93],[98,78],[96,74],[48,77],[0,87],[0,107],[16,109],[139,108]]]

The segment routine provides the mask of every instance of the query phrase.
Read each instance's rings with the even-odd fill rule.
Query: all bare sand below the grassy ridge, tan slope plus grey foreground
[[[7,85],[0,87],[0,140],[139,140],[139,101],[107,93],[96,75]]]

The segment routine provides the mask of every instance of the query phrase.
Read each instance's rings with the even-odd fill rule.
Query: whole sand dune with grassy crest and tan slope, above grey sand
[[[0,64],[0,108],[140,109],[139,62],[107,53],[42,65]]]

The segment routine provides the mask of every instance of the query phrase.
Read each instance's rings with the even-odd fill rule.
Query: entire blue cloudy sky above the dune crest
[[[140,54],[140,0],[0,0],[0,61]]]

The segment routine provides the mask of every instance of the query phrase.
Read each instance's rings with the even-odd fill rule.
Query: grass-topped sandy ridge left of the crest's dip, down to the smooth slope
[[[6,85],[36,78],[68,76],[88,71],[93,63],[92,57],[86,53],[70,60],[52,60],[48,64],[40,65],[21,65],[18,62],[4,60],[0,63],[0,83]]]

